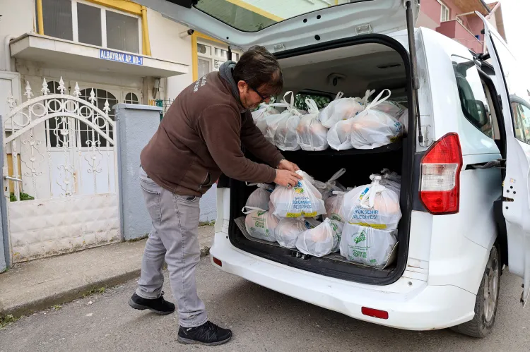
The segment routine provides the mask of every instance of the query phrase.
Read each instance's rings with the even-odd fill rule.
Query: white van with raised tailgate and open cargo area
[[[487,335],[504,265],[524,279],[526,303],[529,92],[486,20],[488,54],[473,54],[437,32],[414,29],[419,0],[340,1],[347,4],[310,13],[301,13],[300,5],[293,17],[269,24],[252,20],[256,6],[250,3],[259,1],[237,1],[248,5],[237,11],[226,5],[236,1],[139,2],[233,48],[264,45],[283,67],[285,91],[356,97],[389,88],[392,99],[408,107],[408,137],[391,145],[284,153],[317,179],[346,168],[340,180],[345,186],[370,183],[368,176],[382,168],[401,174],[403,217],[392,265],[375,269],[338,255],[312,257],[249,240],[235,220],[253,189],[228,178],[220,179],[217,190],[213,265],[302,301],[400,329],[452,327]]]

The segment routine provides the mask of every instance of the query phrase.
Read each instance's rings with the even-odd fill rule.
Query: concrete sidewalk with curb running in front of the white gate
[[[199,227],[201,257],[213,226]],[[0,317],[28,315],[139,277],[146,239],[114,243],[14,265],[0,274]]]

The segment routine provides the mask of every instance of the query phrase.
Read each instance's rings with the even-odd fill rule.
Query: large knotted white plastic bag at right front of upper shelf
[[[389,95],[382,99],[384,92]],[[403,125],[393,116],[375,109],[390,97],[383,90],[351,123],[351,145],[356,149],[373,149],[394,142],[403,133]],[[330,130],[331,131],[331,130]],[[329,143],[331,145],[331,142]]]

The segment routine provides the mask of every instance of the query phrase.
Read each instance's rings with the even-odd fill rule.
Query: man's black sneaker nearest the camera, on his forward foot
[[[181,344],[201,344],[217,346],[227,343],[232,339],[229,329],[218,327],[213,322],[205,322],[199,327],[179,327],[177,341]]]

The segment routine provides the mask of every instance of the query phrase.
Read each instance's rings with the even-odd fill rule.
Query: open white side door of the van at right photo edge
[[[480,14],[478,16],[481,16]],[[506,128],[506,176],[503,183],[502,212],[508,238],[508,267],[522,277],[521,302],[526,305],[530,291],[530,100],[525,75],[502,37],[481,16],[485,42],[495,69],[497,92],[502,101]]]

